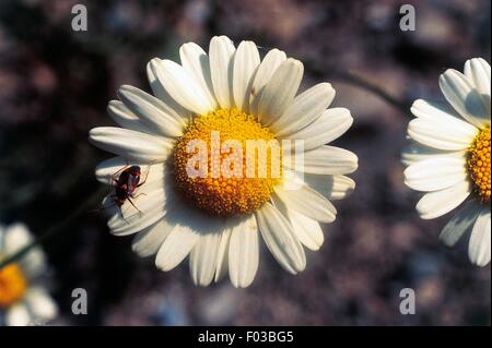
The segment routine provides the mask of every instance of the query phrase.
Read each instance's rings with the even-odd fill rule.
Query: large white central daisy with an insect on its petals
[[[121,128],[90,132],[94,145],[119,156],[96,168],[99,181],[119,187],[117,196],[103,203],[110,231],[137,233],[133,250],[141,256],[156,253],[162,271],[173,269],[189,254],[191,277],[200,286],[219,280],[227,269],[235,287],[250,285],[260,236],[283,268],[303,271],[303,245],[318,250],[324,241],[319,223],[335,220],[330,201],[344,197],[355,185],[344,175],[356,169],[356,156],[326,145],[350,128],[350,111],[328,109],[335,97],[329,83],[298,94],[303,64],[278,49],[261,60],[254,43],[235,48],[220,36],[211,39],[209,53],[189,43],[179,56],[181,64],[157,58],[149,62],[155,97],[131,86],[119,88],[120,101],[109,101],[108,112]],[[219,132],[221,146],[236,140],[242,147],[227,156],[206,156],[206,177],[190,177],[190,144],[204,141],[206,151],[213,153],[213,132]],[[239,166],[246,161],[243,148],[248,140],[285,139],[304,141],[303,168],[293,170],[288,164],[280,177],[251,178],[244,168],[238,176],[223,173],[224,160],[237,159],[232,154],[242,158]],[[273,157],[266,161],[271,169]],[[222,166],[215,176],[214,165]],[[288,190],[289,183],[298,187]],[[126,192],[131,192],[130,200]]]

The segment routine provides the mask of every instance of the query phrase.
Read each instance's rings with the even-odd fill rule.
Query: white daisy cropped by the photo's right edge
[[[473,264],[490,263],[490,64],[481,59],[465,63],[465,74],[449,69],[440,77],[448,104],[415,100],[417,117],[408,127],[414,141],[403,151],[406,183],[426,192],[417,204],[424,219],[462,205],[441,232],[454,245],[471,230],[468,244]]]

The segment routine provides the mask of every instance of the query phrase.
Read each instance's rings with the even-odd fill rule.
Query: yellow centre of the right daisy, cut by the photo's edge
[[[490,128],[484,128],[469,148],[468,170],[482,203],[490,203]]]

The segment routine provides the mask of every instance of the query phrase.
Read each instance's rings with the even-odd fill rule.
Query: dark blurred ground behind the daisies
[[[72,32],[83,3],[89,31]],[[417,31],[401,32],[399,8],[417,9]],[[336,202],[326,243],[307,268],[283,272],[268,252],[251,287],[229,280],[195,287],[187,262],[157,272],[131,237],[108,233],[104,216],[82,214],[45,243],[55,275],[60,325],[490,325],[491,271],[469,264],[467,241],[447,250],[445,216],[421,220],[418,195],[402,183],[399,154],[409,111],[347,75],[382,86],[403,106],[441,98],[437,77],[471,57],[490,62],[490,1],[71,1],[0,2],[0,221],[36,235],[99,189],[94,166],[109,154],[86,142],[116,88],[150,91],[145,64],[178,59],[178,47],[211,36],[253,39],[305,62],[304,85],[331,82],[335,105],[353,128],[338,145],[360,157],[354,194]],[[265,53],[265,52],[262,52]],[[94,202],[94,208],[97,202]],[[71,314],[71,291],[89,292],[89,315]],[[399,313],[399,291],[413,288],[417,314]]]

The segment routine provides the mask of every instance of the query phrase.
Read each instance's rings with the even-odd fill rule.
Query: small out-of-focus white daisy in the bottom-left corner
[[[32,241],[22,224],[0,226],[0,261]],[[58,308],[44,286],[46,271],[40,248],[31,249],[19,262],[0,268],[0,325],[39,325],[57,316]]]

